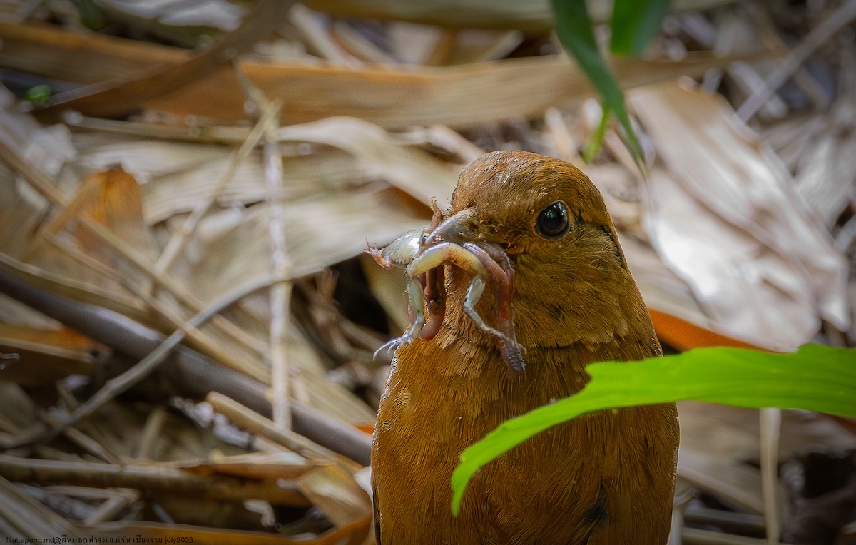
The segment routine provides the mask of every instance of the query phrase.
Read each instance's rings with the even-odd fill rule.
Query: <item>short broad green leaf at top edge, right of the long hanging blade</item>
[[[615,0],[609,49],[615,55],[642,55],[667,11],[669,0]]]

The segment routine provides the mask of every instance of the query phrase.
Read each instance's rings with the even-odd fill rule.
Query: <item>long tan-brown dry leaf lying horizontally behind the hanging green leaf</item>
[[[627,88],[679,75],[697,76],[734,60],[698,53],[681,61],[615,59]],[[550,106],[596,96],[580,68],[567,56],[536,56],[449,67],[354,69],[333,63],[242,58],[243,74],[269,97],[282,98],[287,124],[352,116],[385,128],[443,124],[475,127],[520,117],[540,117]],[[242,94],[235,74],[221,71],[163,98],[146,101],[152,110],[178,117],[241,120]]]

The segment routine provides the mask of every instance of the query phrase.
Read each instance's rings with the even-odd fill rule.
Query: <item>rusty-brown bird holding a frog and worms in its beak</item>
[[[444,314],[431,311],[437,283],[421,277],[431,329],[422,336],[430,340],[395,352],[377,414],[377,542],[665,543],[674,405],[593,412],[536,435],[485,465],[452,515],[449,480],[466,447],[508,418],[578,392],[586,364],[661,350],[603,198],[573,165],[524,151],[479,157],[440,219],[419,252],[448,243],[507,260],[513,308],[502,297],[508,286],[488,275],[485,293],[495,297],[481,297],[473,317],[467,296],[477,267],[448,261],[432,269],[445,271]],[[515,367],[514,346],[525,370]]]

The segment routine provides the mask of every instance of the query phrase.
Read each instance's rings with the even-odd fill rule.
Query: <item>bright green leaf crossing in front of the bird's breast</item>
[[[580,393],[508,420],[461,453],[452,473],[452,512],[473,473],[556,424],[603,409],[680,400],[805,409],[856,417],[856,349],[805,345],[794,353],[697,348],[639,362],[603,362],[586,370]]]

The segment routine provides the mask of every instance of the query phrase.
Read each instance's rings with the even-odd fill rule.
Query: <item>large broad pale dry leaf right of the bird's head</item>
[[[675,83],[629,98],[668,169],[652,172],[646,228],[716,331],[788,349],[821,318],[846,329],[846,262],[728,104]]]

